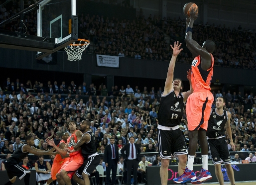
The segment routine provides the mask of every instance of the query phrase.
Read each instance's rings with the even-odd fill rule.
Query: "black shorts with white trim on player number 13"
[[[182,131],[158,129],[159,155],[161,159],[171,159],[171,155],[187,155],[187,146]]]

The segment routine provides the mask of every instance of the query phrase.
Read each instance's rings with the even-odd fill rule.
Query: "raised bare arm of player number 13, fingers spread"
[[[171,61],[170,61],[168,72],[167,72],[167,78],[165,81],[163,95],[166,95],[173,90],[172,81],[173,81],[173,72],[174,72],[175,62],[176,62],[177,56],[183,50],[182,48],[180,48],[181,43],[179,44],[179,41],[177,41],[177,43],[174,42],[173,47],[172,45],[170,46],[172,48],[172,57],[171,57]]]

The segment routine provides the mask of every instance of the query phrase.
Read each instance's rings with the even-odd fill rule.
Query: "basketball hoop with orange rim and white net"
[[[79,43],[78,43],[79,41]],[[69,61],[82,60],[83,51],[89,46],[90,41],[85,39],[77,39],[73,44],[64,47],[68,54]]]

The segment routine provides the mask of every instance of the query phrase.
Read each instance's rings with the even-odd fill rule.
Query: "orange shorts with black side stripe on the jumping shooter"
[[[207,131],[214,97],[208,90],[196,90],[189,95],[186,104],[188,130],[204,129]]]

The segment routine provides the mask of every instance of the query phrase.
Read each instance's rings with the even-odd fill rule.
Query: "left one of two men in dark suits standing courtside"
[[[110,144],[104,151],[104,162],[106,165],[106,185],[115,185],[117,169],[119,163],[118,145],[115,145],[115,138],[110,138]],[[112,180],[110,180],[110,171],[112,170]]]

